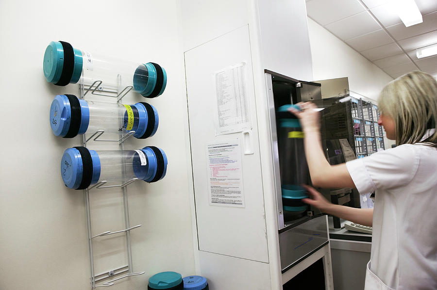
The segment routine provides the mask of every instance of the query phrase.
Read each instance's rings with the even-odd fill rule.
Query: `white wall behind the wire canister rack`
[[[162,96],[149,101],[131,94],[124,101],[149,101],[158,109],[155,136],[125,146],[163,148],[168,171],[159,182],[128,187],[131,225],[143,225],[131,233],[134,271],[146,274],[111,289],[146,289],[148,278],[161,271],[194,274],[178,21],[174,0],[0,1],[1,290],[90,289],[84,193],[65,187],[59,166],[64,150],[82,139],[54,136],[48,120],[56,94],[78,93],[77,85],[57,87],[44,79],[45,48],[58,40],[103,55],[156,62],[168,74]],[[121,229],[120,191],[90,193],[93,234]],[[96,272],[126,261],[123,235],[95,241]]]

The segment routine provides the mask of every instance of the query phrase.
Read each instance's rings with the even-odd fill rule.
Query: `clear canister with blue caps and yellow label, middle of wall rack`
[[[56,136],[73,138],[78,134],[104,130],[125,134],[135,131],[134,137],[144,139],[158,129],[158,112],[152,105],[134,105],[81,100],[74,95],[58,95],[50,107],[50,127]]]

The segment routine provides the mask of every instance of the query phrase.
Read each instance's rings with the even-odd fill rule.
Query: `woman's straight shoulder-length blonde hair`
[[[437,81],[421,71],[404,74],[384,87],[378,107],[394,121],[396,145],[418,143],[436,128]],[[437,130],[423,142],[437,146]]]

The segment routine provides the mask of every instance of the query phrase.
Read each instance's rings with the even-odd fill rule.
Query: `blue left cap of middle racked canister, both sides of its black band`
[[[78,134],[84,134],[89,125],[89,108],[85,100],[79,100],[81,105],[81,125]],[[55,136],[64,137],[67,135],[71,124],[71,106],[67,96],[57,95],[51,102],[50,127]]]

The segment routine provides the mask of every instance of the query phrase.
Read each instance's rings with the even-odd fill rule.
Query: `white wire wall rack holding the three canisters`
[[[121,83],[121,76],[118,75],[118,84]],[[83,80],[83,78],[82,78]],[[102,81],[95,81],[91,85],[85,85],[84,83],[79,83],[80,88],[80,96],[81,99],[84,99],[88,93],[96,96],[104,96],[116,98],[117,103],[121,102],[121,99],[132,90],[132,86],[128,87],[120,87],[118,85],[117,90],[107,89],[102,85]],[[83,135],[83,146],[86,147],[87,142],[93,139],[93,141],[101,141],[101,142],[118,142],[119,150],[124,150],[124,142],[131,137],[135,131],[130,131],[129,133],[121,136],[118,140],[103,140],[99,139],[100,136],[104,133],[104,130],[98,130],[94,134],[92,134],[89,138]],[[124,168],[123,168],[124,170]],[[124,171],[123,171],[124,172]],[[87,224],[87,234],[88,234],[88,249],[89,249],[89,261],[90,261],[90,283],[91,289],[95,289],[97,287],[107,287],[114,285],[115,281],[130,277],[144,274],[145,272],[134,272],[133,270],[133,262],[132,262],[132,247],[131,247],[131,230],[140,227],[141,225],[131,226],[129,221],[129,206],[128,206],[128,192],[127,186],[132,182],[136,181],[138,178],[133,178],[130,180],[124,180],[122,184],[119,185],[110,185],[103,186],[107,181],[103,180],[93,186],[90,186],[84,189],[84,198],[85,198],[85,210],[86,210],[86,224]],[[123,212],[124,212],[124,229],[120,229],[117,231],[104,231],[102,233],[93,235],[92,233],[92,223],[91,223],[91,206],[90,206],[90,190],[91,189],[106,189],[106,188],[114,188],[120,187],[123,195]],[[93,240],[98,239],[99,237],[114,235],[114,234],[124,234],[126,239],[126,257],[127,257],[127,265],[117,266],[108,269],[106,272],[95,274],[94,267],[94,255],[93,255]],[[110,279],[110,280],[109,280]],[[107,280],[107,281],[105,281]],[[105,282],[102,282],[105,281]],[[97,284],[100,282],[101,284]]]

